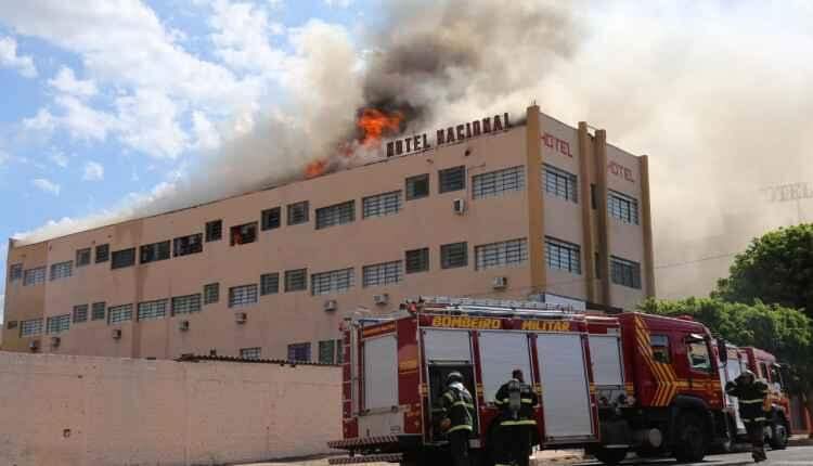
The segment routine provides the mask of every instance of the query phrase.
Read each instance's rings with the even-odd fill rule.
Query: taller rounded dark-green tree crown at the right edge
[[[782,228],[753,240],[735,257],[730,273],[718,281],[713,297],[804,309],[813,318],[813,223]]]

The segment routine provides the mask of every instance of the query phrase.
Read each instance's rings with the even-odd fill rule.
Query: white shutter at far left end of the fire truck
[[[395,335],[364,341],[364,409],[398,405],[398,344]]]

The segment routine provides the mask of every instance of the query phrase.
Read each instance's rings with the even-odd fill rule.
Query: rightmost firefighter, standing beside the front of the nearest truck
[[[737,397],[739,416],[748,430],[753,461],[757,463],[766,461],[764,404],[767,398],[767,385],[762,380],[757,380],[757,376],[751,371],[745,371],[734,381],[725,384],[725,392]]]

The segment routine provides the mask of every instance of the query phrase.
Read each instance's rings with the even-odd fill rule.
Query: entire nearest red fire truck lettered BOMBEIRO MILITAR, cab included
[[[373,461],[448,464],[433,407],[452,371],[478,413],[472,448],[490,464],[494,394],[513,368],[540,396],[540,448],[585,448],[608,464],[628,451],[699,461],[728,435],[712,340],[696,322],[640,313],[593,316],[540,302],[424,298],[344,326],[341,440]]]

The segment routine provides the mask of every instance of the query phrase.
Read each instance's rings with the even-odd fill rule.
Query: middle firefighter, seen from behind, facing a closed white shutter
[[[522,371],[514,370],[511,380],[496,391],[495,404],[501,409],[496,437],[496,466],[528,466],[532,433],[537,426],[533,407],[537,393],[525,383]]]

